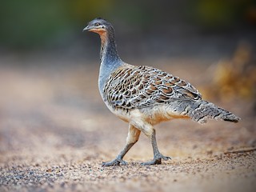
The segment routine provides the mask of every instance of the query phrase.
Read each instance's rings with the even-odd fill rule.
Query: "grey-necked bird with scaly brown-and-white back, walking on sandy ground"
[[[189,82],[152,66],[134,66],[118,55],[114,27],[104,18],[94,18],[83,31],[101,38],[98,89],[107,108],[129,123],[126,145],[110,162],[102,166],[126,166],[123,158],[141,134],[150,138],[154,158],[142,165],[161,164],[169,160],[158,150],[154,126],[175,118],[191,118],[205,123],[207,119],[238,122],[238,116],[202,99]]]

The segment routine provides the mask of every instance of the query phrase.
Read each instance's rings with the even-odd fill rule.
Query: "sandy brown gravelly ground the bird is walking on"
[[[236,124],[175,120],[156,126],[159,150],[172,157],[162,165],[140,165],[153,157],[149,139],[141,135],[124,158],[128,166],[102,167],[122,150],[128,125],[110,114],[98,94],[98,63],[12,57],[0,62],[0,191],[255,191],[250,101],[212,101],[238,114],[242,121]],[[139,64],[157,66],[199,89],[210,73],[203,62]],[[251,151],[230,153],[236,150]]]

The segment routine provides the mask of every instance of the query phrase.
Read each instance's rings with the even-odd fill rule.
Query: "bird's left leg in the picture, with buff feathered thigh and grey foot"
[[[130,125],[128,137],[126,139],[126,146],[123,148],[120,154],[118,154],[118,156],[114,158],[114,160],[112,160],[111,162],[103,162],[102,166],[118,166],[118,165],[126,166],[127,162],[123,161],[122,158],[126,155],[128,150],[130,150],[130,148],[134,146],[134,144],[138,141],[140,133],[141,133],[140,130]]]

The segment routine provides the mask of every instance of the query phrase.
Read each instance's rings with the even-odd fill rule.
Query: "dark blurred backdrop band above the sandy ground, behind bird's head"
[[[241,41],[255,45],[255,9],[252,0],[4,1],[0,48],[95,60],[98,37],[82,29],[102,17],[113,23],[126,58],[228,57]]]

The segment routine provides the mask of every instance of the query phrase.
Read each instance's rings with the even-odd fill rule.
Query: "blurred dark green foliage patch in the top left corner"
[[[1,42],[10,46],[40,44],[70,25],[62,1],[12,0],[1,4]]]

